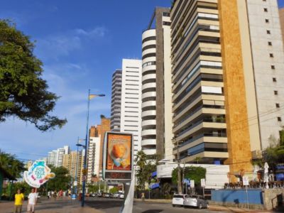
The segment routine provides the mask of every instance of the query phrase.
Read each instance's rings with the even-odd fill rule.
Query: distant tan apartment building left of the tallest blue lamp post
[[[69,154],[63,155],[62,166],[67,168],[72,181],[75,181],[77,173],[77,182],[82,185],[82,169],[84,168],[84,153],[82,151],[71,151]]]

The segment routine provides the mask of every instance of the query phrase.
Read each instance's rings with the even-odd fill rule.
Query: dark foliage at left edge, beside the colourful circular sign
[[[6,170],[14,178],[20,178],[25,170],[23,162],[16,159],[15,155],[4,153],[0,150],[0,167]]]

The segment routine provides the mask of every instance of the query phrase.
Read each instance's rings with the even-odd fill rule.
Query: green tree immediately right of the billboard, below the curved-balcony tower
[[[136,165],[138,169],[136,170],[136,178],[138,187],[142,190],[145,190],[146,182],[150,185],[151,183],[151,174],[157,169],[155,163],[155,156],[148,157],[143,151],[138,151],[136,158]]]

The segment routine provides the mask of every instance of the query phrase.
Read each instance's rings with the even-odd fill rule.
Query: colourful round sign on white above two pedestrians
[[[50,173],[44,160],[37,160],[23,173],[23,178],[31,187],[39,188],[50,178],[55,178],[55,173]]]

